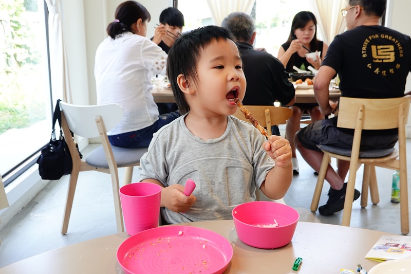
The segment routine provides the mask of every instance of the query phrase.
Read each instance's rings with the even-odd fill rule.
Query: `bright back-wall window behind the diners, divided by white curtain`
[[[264,47],[276,57],[279,47],[287,41],[294,15],[312,11],[311,5],[307,0],[256,0],[251,11],[257,30],[254,46]],[[184,14],[183,31],[214,24],[207,0],[178,0],[178,9]],[[321,39],[319,33],[317,38]]]

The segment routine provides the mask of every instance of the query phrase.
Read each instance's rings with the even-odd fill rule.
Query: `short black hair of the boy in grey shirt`
[[[206,26],[182,34],[171,47],[167,58],[167,76],[181,115],[188,113],[190,106],[185,101],[184,94],[177,84],[177,77],[182,74],[189,86],[192,84],[190,81],[197,81],[197,64],[201,49],[220,39],[229,39],[235,43],[235,38],[230,30],[217,26]]]

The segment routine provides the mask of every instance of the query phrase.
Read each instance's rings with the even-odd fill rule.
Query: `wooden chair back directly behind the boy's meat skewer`
[[[272,135],[271,126],[285,124],[292,115],[292,109],[284,106],[273,105],[245,105],[257,119],[258,123],[267,128],[268,136]],[[242,121],[250,122],[238,108],[235,117]]]

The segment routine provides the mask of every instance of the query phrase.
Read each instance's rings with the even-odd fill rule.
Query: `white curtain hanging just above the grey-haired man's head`
[[[211,10],[214,24],[221,25],[221,22],[232,12],[251,13],[255,0],[207,0]]]

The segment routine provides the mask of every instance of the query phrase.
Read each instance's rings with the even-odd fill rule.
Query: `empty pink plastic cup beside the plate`
[[[151,182],[135,182],[120,188],[125,230],[134,235],[158,227],[161,187]]]

